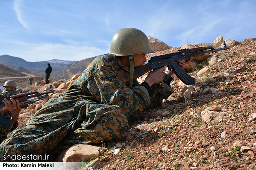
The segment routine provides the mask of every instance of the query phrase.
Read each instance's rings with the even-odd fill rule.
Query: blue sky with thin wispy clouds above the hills
[[[82,60],[134,27],[169,46],[256,37],[256,0],[0,0],[0,55]]]

